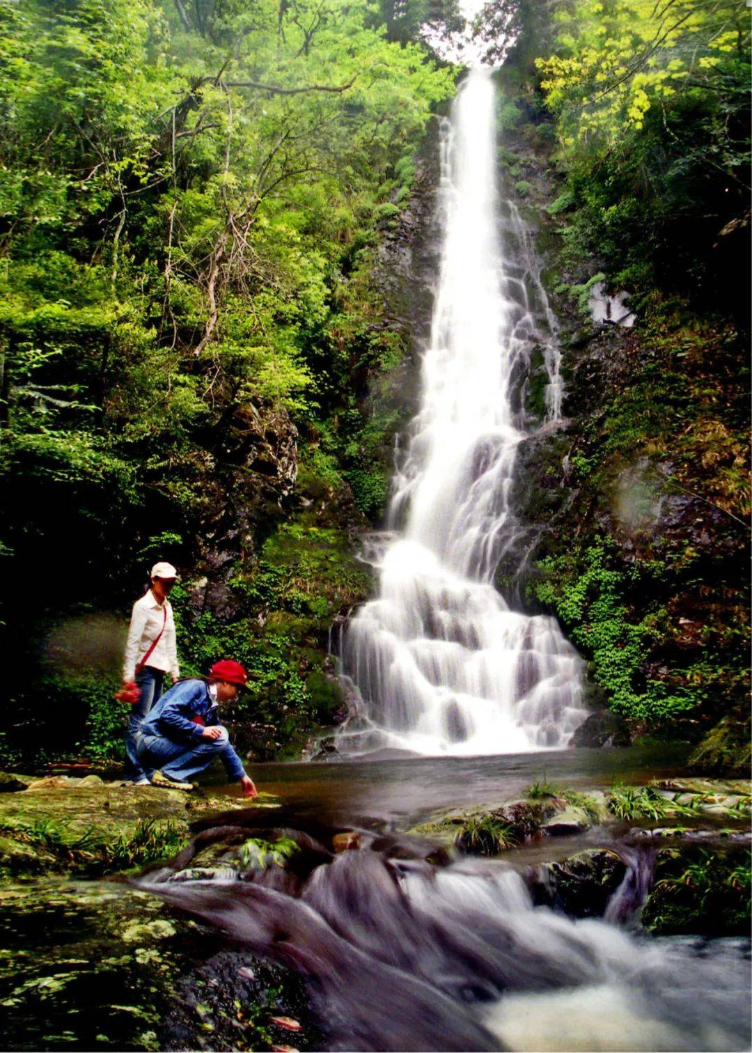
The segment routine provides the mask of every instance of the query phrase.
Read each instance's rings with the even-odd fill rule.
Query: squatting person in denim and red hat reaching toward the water
[[[192,790],[190,779],[219,757],[230,781],[239,781],[246,797],[256,796],[253,780],[219,723],[219,703],[232,701],[246,681],[240,662],[227,658],[215,662],[206,679],[180,680],[162,695],[136,733],[141,764],[159,769],[153,782]]]

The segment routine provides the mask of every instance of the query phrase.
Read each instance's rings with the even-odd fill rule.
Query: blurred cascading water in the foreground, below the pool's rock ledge
[[[257,858],[234,869],[249,834],[298,851],[286,868]],[[503,862],[432,866],[435,845],[367,831],[359,851],[333,857],[316,834],[329,842],[322,828],[205,830],[138,882],[303,973],[324,1031],[314,1049],[749,1048],[747,940],[650,940],[536,907]],[[625,885],[633,900],[638,876]],[[626,899],[616,893],[615,913]]]

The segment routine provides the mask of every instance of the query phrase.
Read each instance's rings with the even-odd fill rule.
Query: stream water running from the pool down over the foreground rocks
[[[599,767],[597,754],[607,756],[546,757],[561,775],[590,761],[579,786],[655,762],[613,751]],[[453,795],[514,791],[534,762],[530,754],[447,758],[442,786],[433,758],[269,766],[257,775],[281,810],[229,813],[138,888],[301,973],[320,1028],[314,1049],[748,1049],[749,940],[651,938],[632,928],[653,847],[595,834],[621,855],[626,874],[603,918],[577,920],[536,899],[546,880],[538,863],[555,848],[542,857],[534,846],[503,860],[461,857],[400,832]],[[343,827],[355,830],[358,851],[337,855],[332,835]],[[298,848],[286,866],[239,865],[248,837]]]

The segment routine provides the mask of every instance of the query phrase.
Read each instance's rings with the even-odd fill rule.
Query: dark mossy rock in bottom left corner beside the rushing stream
[[[7,886],[0,946],[6,1049],[262,1049],[271,1015],[305,1021],[299,978],[118,882]]]

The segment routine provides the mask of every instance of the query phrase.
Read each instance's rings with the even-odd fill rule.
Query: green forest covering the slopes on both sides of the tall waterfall
[[[347,709],[330,631],[371,585],[354,552],[414,375],[389,270],[461,75],[427,40],[461,19],[423,0],[0,17],[3,762],[117,759],[126,612],[162,558],[182,574],[183,672],[241,660],[243,749],[297,755]],[[565,495],[539,486],[570,519],[543,532],[525,601],[558,615],[633,737],[711,732],[710,763],[737,763],[748,13],[499,0],[476,31],[491,58],[515,39],[500,168],[541,214],[551,295],[576,319],[572,474]],[[536,201],[540,171],[555,194]],[[629,286],[640,321],[589,386],[574,366],[598,347],[580,312],[597,280]],[[684,518],[625,537],[602,510],[635,451],[648,498],[678,488]]]

